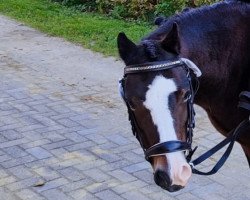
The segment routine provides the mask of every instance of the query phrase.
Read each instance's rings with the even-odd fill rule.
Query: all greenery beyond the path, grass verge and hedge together
[[[150,23],[155,15],[163,13],[168,16],[184,6],[195,7],[211,2],[212,0],[0,0],[0,13],[50,36],[65,38],[104,55],[117,56],[116,39],[119,32],[125,32],[137,43],[155,29]]]

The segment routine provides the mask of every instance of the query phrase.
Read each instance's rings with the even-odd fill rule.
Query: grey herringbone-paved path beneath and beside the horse
[[[0,16],[0,200],[250,199],[239,145],[214,176],[155,185],[117,94],[122,67]],[[196,109],[199,154],[222,137]]]

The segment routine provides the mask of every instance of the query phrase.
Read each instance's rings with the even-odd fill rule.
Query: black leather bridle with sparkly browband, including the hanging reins
[[[126,98],[126,94],[125,94],[126,78],[129,74],[166,71],[166,70],[170,70],[170,69],[177,68],[177,67],[181,67],[186,71],[186,78],[188,80],[189,89],[190,89],[189,90],[190,93],[187,98],[188,117],[187,117],[187,125],[186,125],[186,141],[183,142],[180,140],[173,140],[173,141],[161,142],[161,143],[154,144],[153,146],[149,148],[145,148],[142,142],[142,136],[140,134],[141,129],[138,126],[133,109],[129,105],[129,102]],[[199,156],[195,160],[191,161],[192,155],[197,149],[197,146],[194,149],[192,149],[193,129],[195,127],[195,120],[194,120],[195,112],[194,112],[193,102],[194,102],[194,96],[199,88],[199,81],[195,75],[192,76],[193,72],[194,70],[192,69],[192,67],[190,67],[186,62],[183,62],[183,60],[181,59],[174,60],[174,61],[160,61],[160,62],[149,62],[149,63],[143,63],[143,64],[137,64],[137,65],[129,65],[124,68],[124,76],[119,81],[120,95],[123,98],[128,109],[128,117],[131,123],[132,132],[134,136],[138,139],[144,151],[145,159],[147,161],[149,161],[150,158],[153,156],[165,155],[167,153],[172,153],[172,152],[177,152],[177,151],[184,151],[186,160],[191,166],[193,173],[199,174],[199,175],[212,175],[212,174],[215,174],[226,162],[241,130],[244,129],[246,126],[249,126],[249,119],[243,120],[234,130],[230,131],[229,136],[227,138],[222,140],[219,144],[214,146],[212,149],[203,153],[201,156]],[[193,83],[195,83],[194,87],[193,87]],[[202,171],[195,169],[196,165],[200,164],[201,162],[211,157],[213,154],[215,154],[217,151],[222,149],[227,144],[229,145],[226,151],[224,152],[222,157],[218,160],[218,162],[210,171],[202,172]]]

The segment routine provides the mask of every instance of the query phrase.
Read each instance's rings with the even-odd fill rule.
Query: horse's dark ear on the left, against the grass
[[[117,45],[120,57],[125,63],[127,63],[131,55],[136,50],[136,45],[127,38],[125,33],[119,33],[117,37]]]

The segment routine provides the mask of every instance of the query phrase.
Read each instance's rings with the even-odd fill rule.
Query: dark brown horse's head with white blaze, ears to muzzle
[[[136,45],[124,33],[118,36],[126,64],[121,92],[132,129],[153,167],[156,184],[170,192],[183,188],[192,174],[184,155],[192,137],[187,137],[187,102],[192,93],[189,78],[193,70],[200,73],[193,63],[179,59],[179,48],[176,24],[161,41]]]

